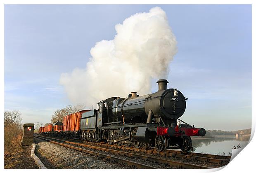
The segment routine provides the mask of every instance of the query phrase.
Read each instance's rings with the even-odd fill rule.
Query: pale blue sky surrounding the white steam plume
[[[5,110],[50,122],[72,103],[62,72],[85,68],[114,26],[161,7],[178,41],[168,87],[187,98],[181,119],[205,129],[251,127],[251,5],[5,5]],[[152,80],[152,92],[157,90]]]

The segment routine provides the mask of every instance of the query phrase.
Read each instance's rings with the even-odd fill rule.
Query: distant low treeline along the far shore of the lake
[[[222,131],[222,130],[208,130],[206,131],[206,137],[219,136],[219,135],[249,135],[251,134],[251,129],[237,130],[237,131]]]

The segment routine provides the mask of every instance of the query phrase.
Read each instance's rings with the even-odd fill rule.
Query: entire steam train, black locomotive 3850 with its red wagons
[[[157,83],[159,89],[155,93],[139,96],[132,92],[127,98],[107,98],[98,103],[97,110],[67,115],[63,123],[41,127],[40,134],[126,147],[155,147],[159,152],[187,152],[192,147],[190,136],[204,136],[206,131],[179,119],[187,100],[180,91],[167,89],[166,79]]]

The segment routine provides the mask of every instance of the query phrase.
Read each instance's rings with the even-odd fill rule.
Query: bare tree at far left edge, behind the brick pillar
[[[21,112],[18,110],[5,111],[4,113],[5,126],[9,124],[20,124],[22,121]]]

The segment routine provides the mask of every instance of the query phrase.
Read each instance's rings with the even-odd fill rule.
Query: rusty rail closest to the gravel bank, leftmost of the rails
[[[94,152],[94,151],[91,151],[91,150],[85,150],[83,148],[74,147],[72,145],[67,145],[67,144],[64,144],[64,143],[59,143],[59,142],[56,142],[56,141],[53,141],[53,140],[50,140],[50,139],[46,139],[47,137],[46,138],[45,137],[42,138],[42,137],[38,137],[38,136],[34,136],[34,137],[40,138],[40,139],[43,139],[43,140],[47,140],[47,141],[49,141],[51,143],[54,143],[54,144],[57,144],[57,145],[61,145],[61,146],[67,147],[67,148],[71,148],[73,150],[78,150],[78,151],[81,151],[81,152],[87,152],[89,154],[93,154],[93,155],[101,157],[101,158],[110,159],[110,160],[113,160],[113,161],[115,161],[115,162],[117,162],[119,164],[126,164],[128,166],[132,166],[132,167],[140,168],[140,169],[141,168],[155,169],[155,167],[153,167],[153,166],[136,163],[134,161],[130,161],[130,160],[126,160],[126,159],[121,159],[121,158],[114,157],[114,156],[109,156],[107,154],[102,154],[102,153]]]

